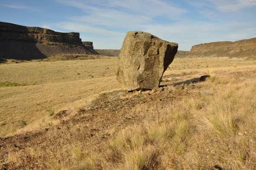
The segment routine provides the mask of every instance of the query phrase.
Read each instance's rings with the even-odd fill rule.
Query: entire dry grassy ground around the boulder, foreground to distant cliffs
[[[117,64],[1,64],[1,135],[18,135],[0,141],[0,169],[256,169],[255,61],[175,58],[162,92],[120,90],[85,107],[119,89]]]

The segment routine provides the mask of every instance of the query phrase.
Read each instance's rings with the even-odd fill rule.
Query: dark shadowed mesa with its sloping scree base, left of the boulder
[[[78,32],[55,32],[40,27],[0,22],[0,58],[32,60],[58,54],[98,54],[92,42],[82,42]]]

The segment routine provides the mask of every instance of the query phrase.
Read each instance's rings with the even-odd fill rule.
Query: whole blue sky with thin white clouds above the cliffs
[[[1,0],[0,21],[79,32],[94,49],[120,49],[128,31],[195,44],[256,37],[256,0]]]

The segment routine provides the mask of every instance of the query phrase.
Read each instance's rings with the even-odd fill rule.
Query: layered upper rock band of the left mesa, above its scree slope
[[[20,26],[12,23],[0,22],[0,40],[57,42],[82,45],[78,32],[55,32],[40,27]]]

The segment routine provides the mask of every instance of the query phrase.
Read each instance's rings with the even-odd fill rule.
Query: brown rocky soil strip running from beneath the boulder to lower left
[[[122,130],[140,124],[147,116],[151,118],[150,115],[131,113],[131,109],[143,104],[166,105],[185,97],[201,96],[198,88],[184,89],[181,85],[169,86],[167,83],[162,88],[147,91],[103,93],[76,115],[68,117],[70,110],[57,113],[58,124],[0,138],[0,170],[47,169],[48,163],[56,158],[59,163],[65,163],[70,161],[69,149],[78,143],[92,151],[104,152],[113,129]]]

